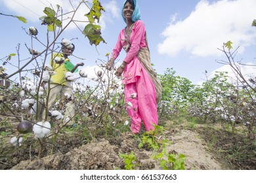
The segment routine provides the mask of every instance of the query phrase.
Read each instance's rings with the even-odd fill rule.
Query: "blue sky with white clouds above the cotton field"
[[[39,39],[46,41],[46,27],[41,25],[39,17],[43,16],[43,8],[50,5],[61,5],[64,12],[68,12],[71,6],[69,1],[63,0],[0,0],[0,12],[24,16],[28,23],[24,24],[15,18],[0,16],[1,35],[4,42],[1,46],[0,59],[11,53],[16,53],[16,45],[20,43],[20,59],[26,63],[31,55],[25,46],[30,47],[31,39],[25,31],[28,27],[35,26],[39,30]],[[72,1],[76,5],[79,1]],[[103,12],[100,25],[102,37],[107,44],[91,46],[87,38],[78,31],[75,26],[66,29],[62,38],[74,39],[75,56],[84,58],[88,72],[93,71],[97,59],[106,59],[105,54],[111,53],[116,44],[119,31],[125,27],[121,18],[121,5],[123,1],[102,0]],[[228,71],[229,67],[217,63],[216,60],[224,59],[224,54],[217,48],[223,46],[223,42],[234,42],[234,48],[240,46],[236,60],[242,63],[256,65],[256,27],[251,23],[256,19],[255,0],[138,0],[141,19],[146,25],[148,44],[150,46],[151,59],[154,68],[159,74],[163,74],[167,68],[173,68],[176,75],[188,78],[194,84],[205,80],[204,72],[213,76],[215,71]],[[83,8],[80,16],[84,20]],[[85,26],[85,25],[81,25]],[[4,45],[4,46],[3,46]],[[43,49],[38,42],[33,42],[33,48]],[[122,52],[118,59],[124,58]],[[71,58],[74,63],[81,62],[77,58]],[[17,59],[13,59],[15,62]],[[1,65],[2,63],[0,63]],[[14,67],[9,66],[7,73],[12,73]],[[255,75],[255,67],[242,67],[244,75]]]

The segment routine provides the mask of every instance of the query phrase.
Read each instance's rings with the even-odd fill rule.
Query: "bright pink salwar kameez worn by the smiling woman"
[[[127,63],[123,70],[123,84],[125,86],[125,103],[127,112],[131,118],[131,131],[139,133],[143,122],[146,131],[154,130],[158,125],[158,112],[156,103],[156,90],[152,79],[137,58],[140,48],[147,46],[146,29],[144,23],[138,20],[134,23],[127,41],[125,29],[119,33],[112,58],[116,59],[119,52],[128,42],[130,44],[127,55],[123,61]]]

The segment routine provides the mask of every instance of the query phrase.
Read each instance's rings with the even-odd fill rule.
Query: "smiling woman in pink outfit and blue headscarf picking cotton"
[[[161,97],[161,84],[150,62],[146,29],[140,20],[136,0],[125,1],[122,16],[127,26],[120,31],[106,68],[113,67],[122,48],[127,52],[115,74],[123,75],[125,104],[131,118],[130,134],[137,134],[142,122],[146,131],[154,130],[154,125],[158,125],[157,103]]]

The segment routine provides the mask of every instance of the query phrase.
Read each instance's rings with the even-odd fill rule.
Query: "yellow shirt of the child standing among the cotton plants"
[[[53,54],[53,59],[56,56],[59,58],[64,58],[63,54],[59,53],[59,54]],[[65,61],[70,61],[70,59],[66,58]],[[53,71],[56,72],[56,75],[51,76],[51,80],[53,80],[53,83],[67,86],[65,73],[68,72],[68,69],[66,69],[64,63],[58,64],[51,59],[50,64],[53,67]]]

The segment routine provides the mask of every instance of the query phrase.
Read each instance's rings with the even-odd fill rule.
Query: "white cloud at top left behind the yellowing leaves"
[[[92,0],[90,0],[89,2],[91,1]],[[63,13],[66,14],[73,11],[73,7],[77,8],[77,5],[79,5],[80,1],[72,1],[72,5],[70,4],[70,1],[65,0],[0,0],[0,2],[9,10],[13,11],[15,15],[24,16],[28,21],[31,22],[39,22],[39,18],[41,16],[45,16],[45,14],[43,13],[45,7],[53,7],[54,10],[56,10],[56,5],[60,5],[60,7],[62,7]],[[92,4],[87,3],[87,5],[91,7]],[[100,20],[100,26],[102,27],[102,30],[104,30],[104,28],[106,27],[105,21],[109,21],[111,17],[117,17],[119,15],[119,8],[117,8],[116,1],[112,0],[109,3],[105,3],[103,7],[105,8],[105,10],[107,9],[107,12],[102,12],[102,18]],[[89,8],[83,3],[75,13],[74,20],[77,20],[76,24],[81,30],[83,30],[83,28],[87,24],[82,21],[87,21],[87,17],[84,15],[88,12]],[[66,14],[63,17],[63,20],[65,20],[66,18],[68,18],[67,20],[70,20],[71,16],[72,13]],[[67,24],[67,22],[68,21],[65,21],[64,25],[65,23]],[[75,24],[70,24],[68,28],[73,29],[75,27]]]

